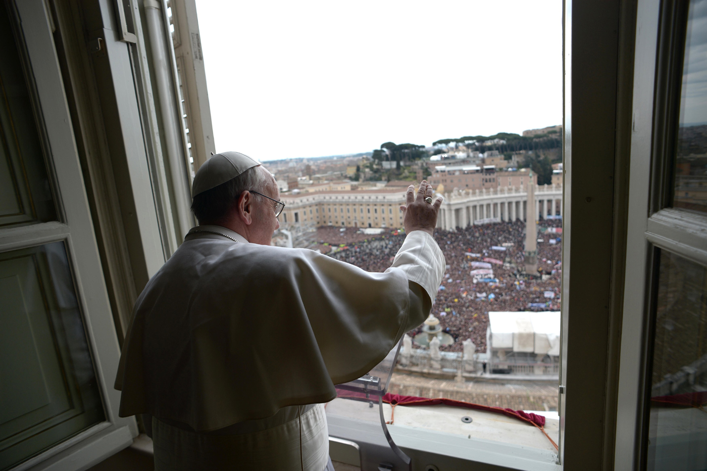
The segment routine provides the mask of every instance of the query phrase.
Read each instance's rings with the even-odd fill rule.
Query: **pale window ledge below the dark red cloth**
[[[383,414],[390,418],[390,405],[383,405]],[[463,416],[472,417],[472,422],[463,423]],[[378,405],[335,399],[327,405],[327,420],[331,436],[356,441],[362,449],[367,443],[387,446]],[[557,421],[548,419],[546,427],[556,441]],[[484,463],[524,471],[561,469],[554,447],[541,431],[493,412],[443,405],[397,406],[395,423],[388,430],[395,443],[413,458],[429,456],[433,462],[436,455],[452,458],[458,465]]]

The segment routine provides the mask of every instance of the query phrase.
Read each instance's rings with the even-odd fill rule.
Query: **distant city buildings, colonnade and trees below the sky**
[[[522,135],[440,139],[431,146],[386,142],[366,153],[289,158],[265,165],[274,173],[286,203],[281,226],[295,238],[320,226],[402,227],[399,205],[404,192],[423,179],[454,202],[453,208],[443,208],[440,227],[464,227],[481,219],[522,220],[525,207],[518,206],[520,192],[531,180],[535,185],[561,187],[561,136],[561,126],[550,126],[528,129]],[[471,203],[479,192],[489,195],[488,204]],[[506,196],[498,199],[498,195]],[[546,204],[544,211],[537,207],[536,214],[554,216],[554,201],[549,197],[546,203],[553,209]]]

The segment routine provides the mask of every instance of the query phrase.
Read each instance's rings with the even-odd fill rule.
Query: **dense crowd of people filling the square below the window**
[[[402,231],[389,231],[349,245],[337,245],[329,256],[368,272],[385,272],[404,238]],[[486,351],[489,311],[559,310],[561,221],[551,219],[538,224],[538,272],[532,275],[525,273],[522,221],[456,231],[437,229],[435,239],[447,265],[432,313],[455,339],[454,344],[440,349],[462,351],[462,342],[472,339],[477,351]],[[410,335],[419,332],[415,330]]]

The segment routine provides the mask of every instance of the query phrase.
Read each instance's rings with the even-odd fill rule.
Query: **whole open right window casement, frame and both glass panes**
[[[636,120],[633,129],[645,144],[631,150],[629,244],[636,250],[626,264],[645,269],[626,275],[624,332],[642,332],[646,342],[632,342],[626,334],[621,339],[620,392],[634,392],[625,407],[640,412],[619,412],[617,434],[631,440],[620,442],[617,466],[703,469],[707,194],[700,186],[707,181],[707,2],[665,1],[660,10],[643,10],[660,22],[637,39],[635,73],[655,74],[655,83],[642,83],[633,96],[634,114],[653,118]],[[649,35],[645,46],[641,35]],[[646,145],[652,153],[644,151]],[[636,165],[648,171],[633,170]],[[628,451],[633,453],[625,458]]]

